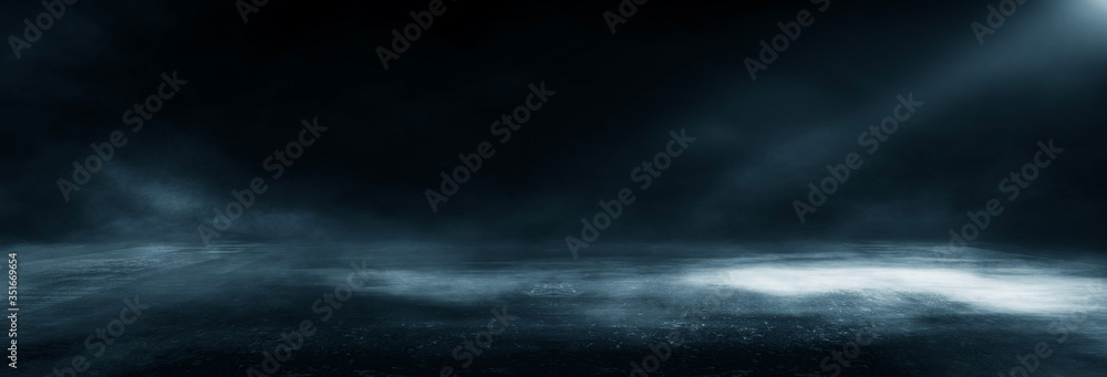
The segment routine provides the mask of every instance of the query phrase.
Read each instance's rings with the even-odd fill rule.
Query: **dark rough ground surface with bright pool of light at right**
[[[1033,376],[1107,369],[1107,265],[1079,253],[658,245],[590,248],[573,260],[551,249],[519,259],[510,255],[528,250],[508,247],[13,249],[14,375],[72,376],[63,369],[83,356],[82,376],[246,376],[306,320],[315,333],[272,375],[628,376],[632,362],[650,366],[653,346],[670,355],[651,376],[830,376],[835,364],[846,376],[996,376],[1038,343],[1051,353],[1027,359]],[[351,263],[364,263],[368,284],[322,321],[327,304],[315,302],[346,284]],[[149,307],[95,356],[85,338],[135,296]],[[487,349],[470,345],[480,355],[464,367],[463,344],[487,329],[493,310],[517,318]],[[826,359],[858,348],[839,357],[848,365]]]

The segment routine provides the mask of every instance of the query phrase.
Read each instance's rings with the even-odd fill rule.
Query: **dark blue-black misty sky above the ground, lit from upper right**
[[[665,1],[611,34],[618,1],[447,1],[384,70],[377,46],[428,1],[79,1],[0,80],[0,239],[177,241],[230,191],[268,191],[216,242],[442,241],[563,247],[599,200],[637,200],[600,243],[914,240],[944,243],[999,198],[979,242],[1104,247],[1107,1],[1027,1],[980,45],[986,1]],[[752,81],[758,41],[815,22]],[[7,3],[6,35],[44,8]],[[144,127],[122,121],[162,73],[187,84]],[[506,144],[493,122],[528,85],[556,94]],[[859,134],[898,95],[923,102],[873,154]],[[328,127],[272,179],[262,161],[303,118]],[[670,130],[696,140],[642,190],[632,169]],[[80,191],[59,178],[90,144],[127,144]],[[1006,199],[997,185],[1038,140],[1065,151]],[[425,190],[482,142],[495,155],[431,210]],[[825,166],[851,171],[800,223]]]

